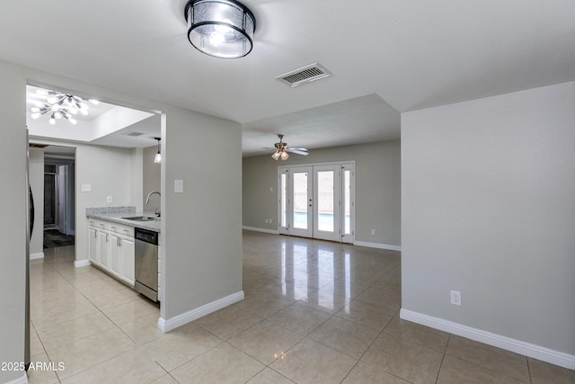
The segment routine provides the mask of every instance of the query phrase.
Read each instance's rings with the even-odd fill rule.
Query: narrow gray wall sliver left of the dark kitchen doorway
[[[34,197],[34,229],[30,254],[44,254],[44,148],[29,148],[28,174]]]

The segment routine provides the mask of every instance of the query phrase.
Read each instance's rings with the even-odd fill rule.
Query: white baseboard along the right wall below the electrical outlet
[[[400,311],[400,317],[403,320],[422,326],[430,326],[431,328],[475,340],[476,342],[493,345],[507,351],[541,360],[542,362],[549,362],[569,370],[575,370],[575,355],[569,353],[553,351],[539,345],[522,342],[507,336],[491,334],[491,332],[472,328],[471,326],[464,326],[443,318],[431,317],[407,309]]]

